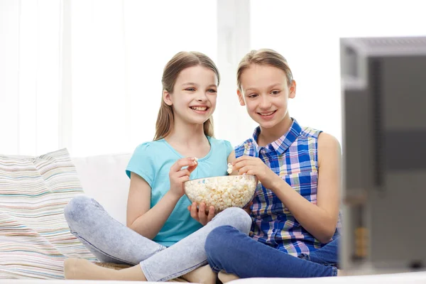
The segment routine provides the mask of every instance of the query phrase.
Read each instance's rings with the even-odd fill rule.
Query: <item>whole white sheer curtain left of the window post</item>
[[[165,63],[217,60],[217,1],[1,0],[0,153],[129,153],[152,140]]]

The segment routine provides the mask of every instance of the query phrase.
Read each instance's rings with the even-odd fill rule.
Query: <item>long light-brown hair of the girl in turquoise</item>
[[[187,67],[194,66],[207,67],[212,70],[217,76],[217,85],[219,86],[220,75],[219,70],[217,70],[216,65],[213,60],[211,60],[207,55],[203,53],[198,53],[196,51],[181,51],[173,56],[172,59],[165,65],[163,70],[163,78],[161,83],[163,84],[163,90],[166,90],[169,93],[173,93],[173,88],[175,87],[176,80],[180,72]],[[155,140],[160,140],[165,138],[172,131],[174,121],[173,107],[169,106],[164,102],[164,99],[161,99],[160,110],[158,111],[157,122],[155,123]],[[210,117],[207,121],[204,122],[204,134],[206,136],[213,137],[213,117]]]

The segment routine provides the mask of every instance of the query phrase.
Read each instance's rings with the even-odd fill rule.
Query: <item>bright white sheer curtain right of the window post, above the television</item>
[[[426,35],[425,10],[420,0],[253,0],[251,48],[287,58],[297,82],[290,115],[342,141],[339,38]]]

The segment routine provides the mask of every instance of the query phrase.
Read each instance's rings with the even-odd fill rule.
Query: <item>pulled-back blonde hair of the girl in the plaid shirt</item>
[[[238,70],[236,71],[236,84],[240,91],[241,75],[243,74],[244,70],[249,68],[252,64],[277,67],[285,72],[288,86],[290,86],[290,84],[293,82],[293,73],[291,72],[290,67],[288,67],[288,62],[285,60],[283,55],[280,55],[280,53],[277,53],[275,50],[268,48],[251,50],[244,56],[243,59],[241,59],[238,65]]]

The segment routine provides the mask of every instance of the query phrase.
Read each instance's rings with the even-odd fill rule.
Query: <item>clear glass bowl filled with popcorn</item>
[[[257,180],[254,175],[225,175],[199,178],[184,183],[185,194],[191,202],[204,202],[216,212],[229,207],[244,208],[253,199]]]

